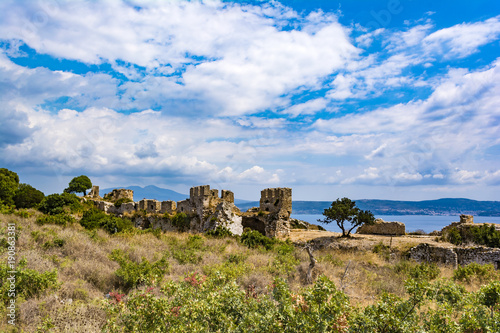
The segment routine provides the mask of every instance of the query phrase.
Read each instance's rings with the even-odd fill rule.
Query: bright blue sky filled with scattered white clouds
[[[498,1],[2,1],[0,166],[46,194],[499,200]]]

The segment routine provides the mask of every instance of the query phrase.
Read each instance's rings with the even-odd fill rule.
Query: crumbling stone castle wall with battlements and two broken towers
[[[108,214],[130,216],[139,228],[179,230],[173,225],[172,218],[178,213],[184,213],[191,231],[206,232],[224,226],[236,235],[241,235],[244,228],[276,238],[286,238],[290,233],[290,188],[268,188],[261,191],[260,207],[251,208],[247,212],[241,212],[236,207],[233,192],[222,190],[219,197],[219,191],[211,189],[209,185],[192,187],[189,198],[178,202],[143,199],[125,202],[116,207],[113,202],[121,198],[133,201],[133,191],[126,189],[113,190],[105,198],[109,201],[89,197],[98,209]]]

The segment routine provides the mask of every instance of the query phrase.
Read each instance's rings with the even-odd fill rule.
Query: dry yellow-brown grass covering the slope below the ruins
[[[247,248],[236,238],[200,236],[193,241],[188,233],[132,231],[109,235],[102,230],[87,231],[78,223],[67,227],[38,225],[35,220],[40,213],[30,214],[33,215],[28,218],[0,215],[4,228],[0,237],[7,223],[15,222],[19,232],[18,260],[25,258],[27,268],[38,272],[56,269],[60,285],[37,297],[18,300],[17,328],[25,332],[100,332],[106,322],[106,295],[112,291],[128,292],[116,275],[118,263],[110,259],[116,249],[137,263],[143,258],[155,262],[167,257],[163,282],[183,280],[192,272],[210,275],[225,270],[241,288],[253,286],[257,293],[265,293],[276,276],[286,278],[292,290],[305,286],[309,257],[300,243],[319,237],[317,244],[329,246],[314,252],[318,263],[313,278],[326,275],[350,297],[352,305],[366,306],[386,292],[404,297],[407,276],[398,267],[412,265],[406,261],[405,252],[420,242],[434,242],[430,237],[391,240],[365,235],[346,240],[335,238],[338,235],[334,233],[302,231],[292,232],[295,249],[283,255],[262,247]],[[6,249],[1,251],[0,260],[6,262]],[[441,277],[449,278],[452,274],[451,268],[440,267]],[[467,288],[476,290],[479,283],[473,281]],[[2,305],[4,318],[5,311]],[[0,331],[9,329],[2,321]]]

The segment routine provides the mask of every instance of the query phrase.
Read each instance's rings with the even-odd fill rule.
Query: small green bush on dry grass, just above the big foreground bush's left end
[[[168,269],[165,256],[154,263],[150,263],[144,257],[140,263],[136,263],[123,251],[113,250],[109,258],[120,265],[115,274],[121,279],[125,289],[139,285],[156,285],[161,282]]]

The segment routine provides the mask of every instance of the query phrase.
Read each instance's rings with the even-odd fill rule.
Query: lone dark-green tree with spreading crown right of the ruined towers
[[[348,198],[337,199],[332,202],[330,208],[323,212],[325,218],[318,220],[325,224],[336,222],[342,230],[342,237],[349,237],[351,231],[362,224],[373,224],[375,217],[369,210],[361,210],[356,207],[356,202]],[[349,223],[349,228],[346,224]]]

